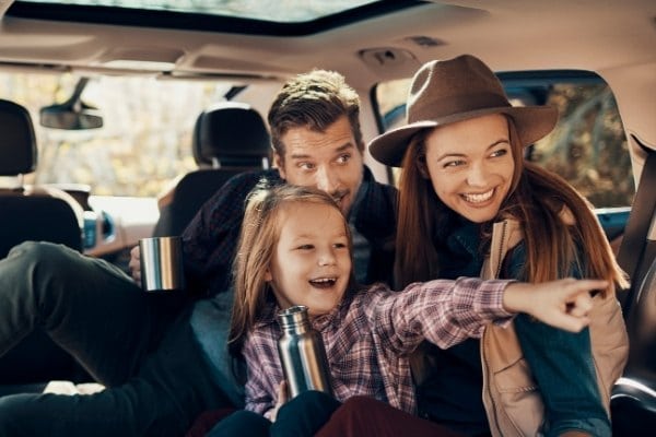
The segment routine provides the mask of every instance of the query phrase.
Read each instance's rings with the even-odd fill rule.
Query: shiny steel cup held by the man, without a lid
[[[147,292],[185,288],[183,239],[154,237],[139,240],[141,286]]]

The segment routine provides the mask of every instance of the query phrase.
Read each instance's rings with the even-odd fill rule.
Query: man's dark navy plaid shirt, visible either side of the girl
[[[185,229],[185,277],[192,295],[214,296],[229,288],[245,200],[260,180],[267,180],[271,186],[284,184],[276,169],[237,175],[204,203]],[[367,167],[364,167],[362,187],[366,192],[353,222],[372,248],[366,282],[389,281],[394,263],[397,191],[391,186],[376,182]]]

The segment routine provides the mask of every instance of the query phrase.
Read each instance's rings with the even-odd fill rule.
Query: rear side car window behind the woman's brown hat
[[[587,72],[500,73],[513,105],[554,105],[557,128],[527,150],[527,160],[564,177],[596,208],[629,206],[635,188],[622,120],[609,86]],[[375,88],[378,120],[405,122],[410,79]],[[396,182],[397,170],[393,170]]]

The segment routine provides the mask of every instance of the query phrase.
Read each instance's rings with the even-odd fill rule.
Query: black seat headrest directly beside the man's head
[[[250,105],[221,102],[204,110],[194,129],[198,165],[244,166],[269,157],[271,145],[265,120]]]

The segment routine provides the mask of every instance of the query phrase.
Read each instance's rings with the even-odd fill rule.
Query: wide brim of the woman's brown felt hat
[[[506,114],[513,118],[523,146],[535,143],[553,130],[558,122],[558,109],[551,106],[504,106],[454,114],[438,120],[421,120],[389,130],[368,143],[372,156],[386,165],[400,167],[409,141],[417,132],[468,120],[489,114]]]

